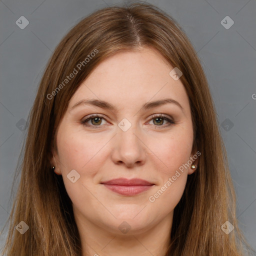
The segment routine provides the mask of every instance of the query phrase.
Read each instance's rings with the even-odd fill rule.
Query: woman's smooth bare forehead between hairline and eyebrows
[[[69,107],[82,99],[91,98],[120,107],[139,107],[149,100],[170,97],[189,110],[182,82],[169,75],[172,69],[173,66],[152,48],[116,53],[100,62],[81,83]]]

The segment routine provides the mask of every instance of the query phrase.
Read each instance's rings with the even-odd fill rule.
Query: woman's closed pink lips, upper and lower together
[[[149,189],[153,183],[139,178],[116,178],[108,181],[103,181],[108,189],[123,195],[135,195]]]

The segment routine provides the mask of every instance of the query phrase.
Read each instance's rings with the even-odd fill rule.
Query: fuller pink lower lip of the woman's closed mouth
[[[123,195],[135,195],[143,191],[146,191],[152,187],[152,185],[135,185],[135,186],[122,186],[122,185],[108,185],[104,184],[108,189]]]

